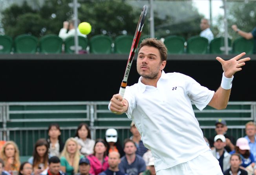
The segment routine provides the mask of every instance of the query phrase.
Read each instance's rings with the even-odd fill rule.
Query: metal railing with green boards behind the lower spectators
[[[47,138],[46,124],[52,122],[64,123],[64,126],[61,125],[63,141],[73,137],[77,129],[77,124],[72,125],[71,122],[88,123],[92,139],[104,138],[105,130],[108,128],[117,129],[121,140],[130,137],[131,119],[128,119],[125,114],[112,114],[108,110],[108,103],[108,101],[0,103],[0,123],[2,124],[0,140],[12,139],[18,144],[21,155],[30,155],[31,148],[26,144],[33,145],[38,138]],[[208,122],[209,124],[200,125],[206,137],[214,135],[213,121],[219,118],[228,122],[238,122],[237,125],[228,125],[228,132],[235,134],[234,137],[245,135],[245,125],[239,123],[256,122],[256,102],[229,102],[225,110],[207,107],[203,111],[195,109],[194,112],[199,123]],[[21,123],[24,126],[20,126]],[[26,126],[27,123],[31,126]]]

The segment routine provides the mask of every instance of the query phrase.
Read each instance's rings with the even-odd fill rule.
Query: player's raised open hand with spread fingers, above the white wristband
[[[239,54],[238,56],[235,56],[234,58],[230,59],[230,60],[223,60],[220,57],[217,57],[216,60],[218,60],[221,65],[222,65],[222,69],[224,71],[224,75],[227,78],[232,78],[232,76],[242,70],[242,66],[245,65],[245,61],[249,61],[251,60],[251,58],[243,58],[240,59],[242,56],[245,55],[245,52]]]

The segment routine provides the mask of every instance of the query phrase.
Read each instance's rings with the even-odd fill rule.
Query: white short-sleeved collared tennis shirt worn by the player
[[[155,157],[155,170],[190,161],[209,150],[192,109],[210,102],[214,91],[180,73],[162,71],[157,87],[139,82],[126,87],[124,99],[144,145]],[[200,165],[199,165],[200,166]]]

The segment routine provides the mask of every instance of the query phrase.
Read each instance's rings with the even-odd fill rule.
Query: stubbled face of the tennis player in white
[[[165,68],[166,61],[161,60],[160,52],[155,47],[141,47],[137,58],[137,71],[140,76],[147,79],[157,79],[161,70]]]

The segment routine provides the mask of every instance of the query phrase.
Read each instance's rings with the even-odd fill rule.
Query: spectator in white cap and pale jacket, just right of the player
[[[214,149],[212,155],[219,161],[221,171],[224,172],[230,167],[230,153],[225,150],[226,139],[222,134],[214,137]]]

